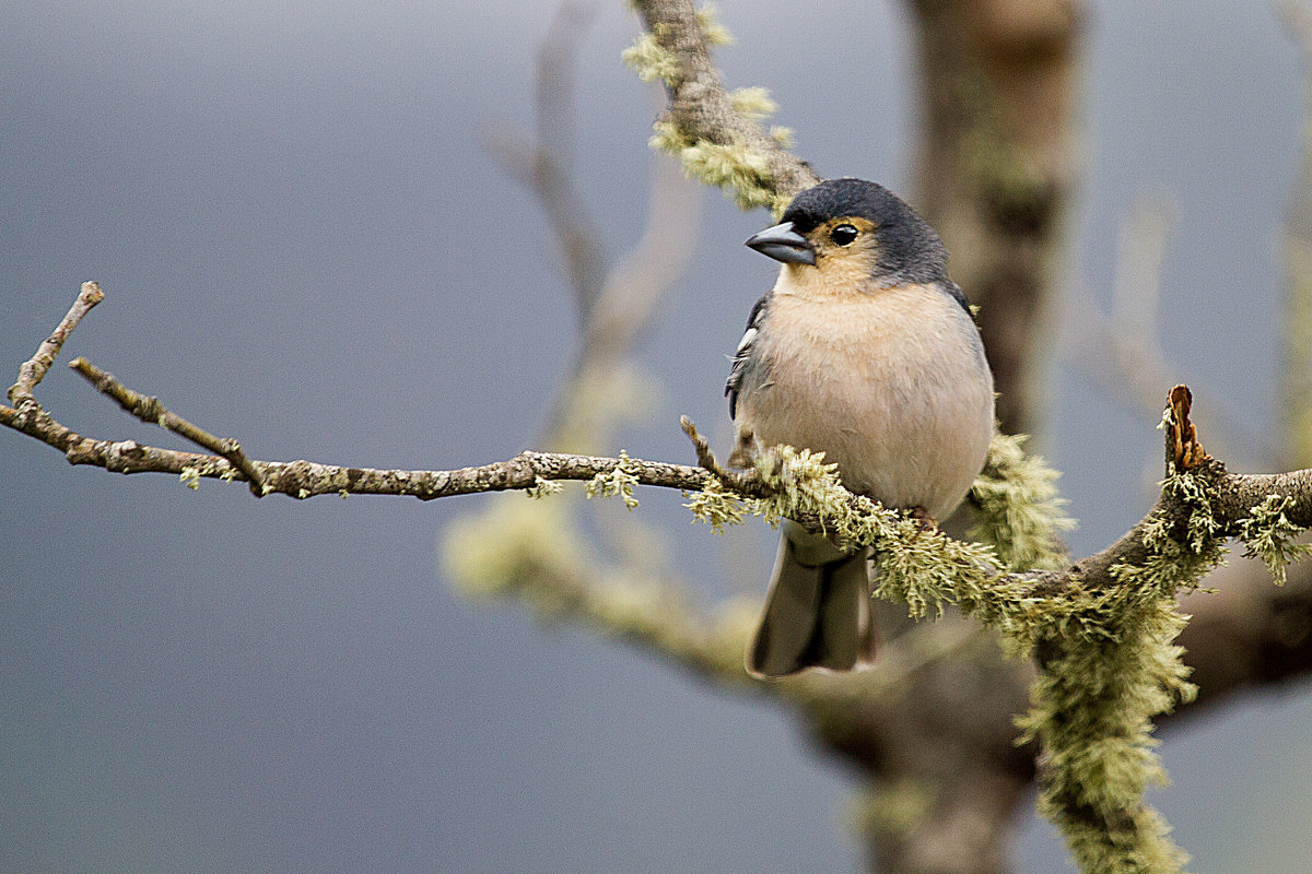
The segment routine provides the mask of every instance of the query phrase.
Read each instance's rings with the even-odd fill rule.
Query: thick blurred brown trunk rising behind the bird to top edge
[[[917,207],[980,307],[1008,432],[1034,432],[1072,178],[1076,0],[908,0],[918,38]]]

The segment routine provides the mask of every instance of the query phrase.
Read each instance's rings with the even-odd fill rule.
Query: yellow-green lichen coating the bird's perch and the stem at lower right
[[[1164,484],[1166,495],[1189,510],[1181,539],[1165,523],[1151,524],[1147,560],[1118,565],[1111,584],[1043,594],[1002,573],[1000,553],[1012,567],[1065,562],[1055,544],[1069,520],[1055,474],[1010,438],[996,442],[991,461],[976,495],[997,550],[922,531],[912,519],[853,498],[821,457],[787,447],[757,460],[778,494],[745,506],[770,522],[819,516],[840,540],[875,548],[880,596],[904,601],[917,617],[955,604],[998,630],[1009,650],[1034,654],[1039,675],[1018,725],[1021,739],[1042,750],[1040,811],[1084,871],[1179,871],[1186,857],[1143,793],[1165,778],[1153,753],[1153,717],[1194,694],[1173,642],[1185,622],[1176,592],[1197,586],[1224,554],[1204,485],[1174,470]],[[1274,527],[1274,508],[1262,518],[1267,529]]]

